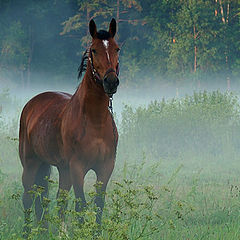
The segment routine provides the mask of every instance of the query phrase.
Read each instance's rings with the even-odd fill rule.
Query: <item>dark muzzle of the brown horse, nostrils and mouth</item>
[[[103,88],[105,93],[108,94],[108,96],[112,96],[114,93],[117,92],[117,87],[119,85],[119,79],[116,75],[116,72],[114,70],[108,71],[103,79]]]

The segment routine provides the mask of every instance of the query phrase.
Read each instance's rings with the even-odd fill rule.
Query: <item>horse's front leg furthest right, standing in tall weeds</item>
[[[100,225],[102,219],[102,213],[105,203],[105,191],[108,181],[112,175],[114,168],[114,160],[104,164],[96,170],[97,183],[96,183],[96,198],[95,204],[97,206],[96,222]]]

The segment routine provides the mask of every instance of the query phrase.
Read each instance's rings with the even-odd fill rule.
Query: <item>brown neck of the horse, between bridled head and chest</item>
[[[93,79],[88,65],[81,85],[73,96],[72,104],[78,116],[87,116],[92,123],[101,124],[105,122],[108,114],[109,97],[105,94],[103,87]]]

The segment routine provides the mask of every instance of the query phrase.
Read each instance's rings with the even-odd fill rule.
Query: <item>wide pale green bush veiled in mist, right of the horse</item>
[[[219,154],[230,146],[239,151],[239,104],[228,92],[163,99],[136,110],[125,106],[122,118],[120,154],[124,156],[136,153],[137,159],[138,149],[155,157]]]

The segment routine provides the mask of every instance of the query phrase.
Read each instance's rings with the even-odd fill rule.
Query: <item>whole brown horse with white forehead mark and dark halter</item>
[[[104,192],[112,174],[118,133],[108,109],[112,95],[117,91],[118,52],[114,40],[116,21],[112,19],[109,31],[97,31],[93,20],[89,23],[92,43],[85,53],[87,60],[84,78],[73,95],[62,92],[44,92],[32,98],[24,107],[20,119],[19,154],[23,166],[23,205],[25,223],[33,200],[29,193],[33,185],[44,187],[36,199],[35,212],[40,220],[43,214],[41,199],[48,194],[50,166],[59,172],[59,190],[69,191],[73,185],[76,211],[86,206],[84,176],[92,169],[97,175],[95,203],[97,223],[101,222]],[[86,57],[87,56],[87,57]],[[84,57],[80,75],[84,70]],[[25,228],[26,231],[29,229]]]

